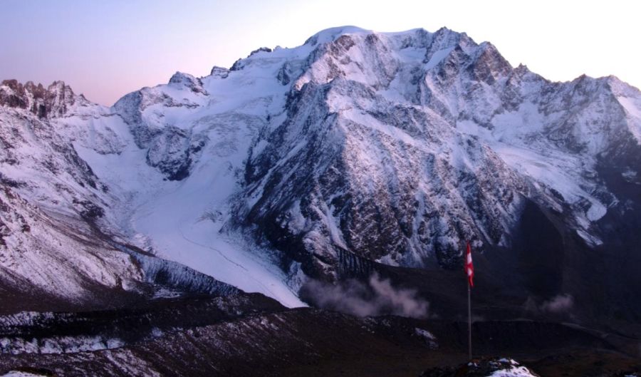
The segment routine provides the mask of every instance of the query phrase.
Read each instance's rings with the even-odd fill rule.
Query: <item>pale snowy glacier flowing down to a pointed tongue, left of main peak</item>
[[[172,83],[179,82],[176,77],[172,78]],[[177,102],[184,91],[193,91],[190,86],[179,91],[171,85],[147,89],[142,101],[150,102],[142,110],[140,124],[127,125],[120,121],[120,117],[115,117],[110,125],[110,129],[125,142],[126,146],[120,153],[103,154],[80,145],[76,149],[100,180],[121,198],[115,204],[120,207],[120,213],[114,214],[117,230],[132,242],[137,242],[137,246],[244,291],[266,294],[286,306],[303,306],[286,284],[287,278],[282,270],[266,257],[271,252],[269,248],[251,244],[241,236],[227,236],[221,232],[229,216],[229,197],[239,190],[242,163],[249,144],[263,127],[265,114],[275,100],[273,96],[278,91],[282,92],[275,78],[271,78],[276,89],[273,95],[270,91],[252,88],[251,84],[241,86],[234,80],[236,77],[233,75],[227,78],[221,83],[224,88],[206,81],[207,90],[214,97],[207,98],[207,103],[213,104],[198,105],[188,110],[183,107],[174,110],[165,105]],[[254,84],[259,88],[269,88],[266,82]],[[235,96],[215,99],[233,87],[241,87],[243,91]],[[153,103],[153,98],[162,98],[163,102]],[[225,100],[240,102],[227,104]],[[172,177],[162,174],[162,169],[159,171],[150,166],[150,155],[158,148],[153,138],[148,150],[140,149],[129,133],[132,126],[148,127],[147,116],[157,120],[159,110],[164,112],[162,121],[167,122],[161,126],[162,132],[175,126],[184,130],[188,135],[185,138],[203,140],[197,155],[182,155],[182,158],[193,159],[189,174],[182,180],[172,180]],[[146,134],[146,131],[140,134]],[[162,139],[163,136],[155,138]],[[180,140],[167,140],[167,143],[167,149],[183,148]],[[161,160],[163,158],[173,157],[160,157]]]

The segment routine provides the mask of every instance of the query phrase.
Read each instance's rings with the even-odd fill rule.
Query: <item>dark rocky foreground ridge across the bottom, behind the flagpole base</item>
[[[463,322],[358,318],[284,309],[270,301],[258,296],[160,300],[118,312],[54,314],[28,326],[3,317],[3,339],[23,337],[31,353],[4,353],[0,371],[45,376],[449,376],[434,373],[467,361]],[[88,319],[90,324],[115,322],[87,326]],[[48,326],[54,330],[42,331]],[[575,326],[482,321],[474,324],[473,336],[475,355],[509,353],[540,376],[622,376],[641,367],[630,353],[635,341]],[[65,341],[68,347],[84,341],[80,346],[85,349],[57,353],[56,346]]]

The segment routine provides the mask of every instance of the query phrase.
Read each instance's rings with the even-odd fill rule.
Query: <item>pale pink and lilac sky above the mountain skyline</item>
[[[261,46],[354,25],[447,26],[555,81],[614,74],[641,87],[637,1],[0,1],[0,80],[63,80],[105,105],[175,71],[209,74]]]

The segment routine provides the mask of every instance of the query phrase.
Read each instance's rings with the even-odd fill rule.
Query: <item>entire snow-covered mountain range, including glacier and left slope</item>
[[[113,244],[298,306],[306,277],[454,268],[467,240],[496,269],[559,247],[594,261],[641,224],[641,93],[613,76],[553,83],[448,29],[328,29],[112,108],[4,81],[0,105],[6,276],[70,295],[144,280]],[[573,291],[573,258],[533,270],[553,264],[552,288],[519,284]]]

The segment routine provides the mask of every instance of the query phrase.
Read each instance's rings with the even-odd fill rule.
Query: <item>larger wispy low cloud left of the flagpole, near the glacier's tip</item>
[[[378,274],[372,274],[367,283],[352,279],[334,285],[311,280],[301,288],[301,296],[314,306],[356,316],[427,318],[429,310],[429,303],[417,291],[392,286]]]

